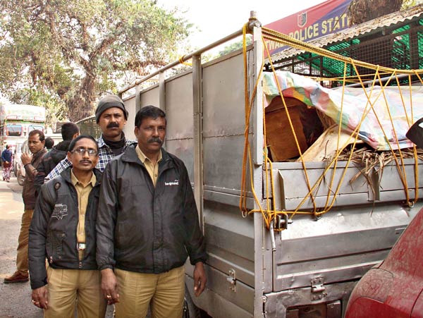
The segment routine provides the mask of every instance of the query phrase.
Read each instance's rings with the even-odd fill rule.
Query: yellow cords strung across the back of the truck
[[[347,82],[347,80],[348,81],[352,80],[351,78],[348,78],[346,76],[348,65],[353,67],[355,73],[357,74],[357,76],[354,78],[354,81],[359,82],[361,87],[363,88],[363,90],[364,90],[365,85],[364,85],[364,82],[363,82],[359,72],[357,71],[357,67],[364,67],[364,68],[374,70],[374,78],[372,80],[372,87],[369,90],[369,92],[366,92],[366,90],[364,90],[364,92],[366,92],[366,96],[367,96],[367,104],[366,104],[364,111],[363,111],[363,114],[361,116],[360,123],[357,125],[357,128],[355,128],[353,133],[351,133],[351,135],[350,135],[350,137],[352,137],[354,141],[353,141],[352,146],[350,146],[351,147],[350,155],[349,155],[347,162],[345,164],[345,168],[343,168],[343,172],[341,174],[341,179],[340,179],[340,181],[338,181],[338,185],[335,184],[335,172],[336,172],[336,169],[338,169],[338,157],[341,154],[341,152],[343,151],[343,149],[349,145],[348,142],[345,142],[343,145],[340,145],[339,136],[341,134],[341,125],[338,125],[338,140],[337,140],[336,154],[333,157],[333,159],[331,159],[331,161],[329,161],[329,163],[326,165],[326,168],[324,169],[323,173],[321,173],[321,176],[319,176],[317,181],[314,184],[312,184],[309,181],[307,166],[306,166],[305,161],[302,157],[300,144],[298,142],[297,135],[295,134],[295,130],[294,130],[294,127],[293,127],[293,121],[290,118],[288,106],[286,105],[285,99],[283,98],[283,94],[281,92],[281,87],[280,87],[278,80],[276,78],[275,68],[273,66],[273,63],[271,63],[271,59],[269,59],[271,70],[274,73],[276,84],[278,85],[279,95],[281,96],[281,99],[282,99],[282,102],[283,102],[283,107],[285,109],[286,116],[288,118],[288,123],[289,123],[290,129],[293,133],[295,145],[296,145],[298,152],[300,154],[300,161],[302,163],[302,169],[304,171],[305,181],[306,181],[306,185],[307,185],[307,189],[308,189],[307,195],[305,195],[305,197],[302,199],[300,204],[298,204],[298,207],[296,207],[293,211],[276,210],[275,200],[271,200],[271,198],[275,198],[274,178],[273,178],[273,173],[272,173],[273,167],[272,167],[271,160],[267,156],[266,149],[264,149],[264,153],[263,153],[263,155],[264,155],[264,168],[263,168],[264,169],[264,187],[265,187],[265,197],[266,197],[264,202],[261,202],[259,200],[259,198],[257,197],[257,194],[255,192],[255,188],[254,188],[254,183],[253,183],[253,176],[252,176],[253,164],[252,164],[252,154],[251,154],[251,149],[250,149],[250,141],[249,141],[248,132],[249,132],[249,129],[250,129],[251,111],[252,111],[252,107],[253,107],[253,104],[254,104],[255,95],[257,93],[257,85],[259,85],[259,81],[262,78],[262,72],[260,72],[260,74],[257,76],[257,82],[255,82],[254,89],[253,89],[252,94],[250,96],[250,91],[249,91],[249,88],[248,88],[248,71],[247,71],[247,45],[246,45],[247,30],[248,30],[248,23],[245,24],[244,27],[243,27],[243,53],[244,53],[244,78],[245,78],[245,133],[244,133],[245,143],[244,143],[244,153],[243,153],[243,174],[242,174],[242,178],[241,178],[240,210],[241,210],[241,212],[243,212],[243,216],[246,216],[247,214],[251,214],[251,213],[255,213],[255,212],[261,213],[262,216],[263,216],[263,219],[264,219],[264,223],[266,224],[267,228],[270,228],[271,222],[274,221],[276,216],[281,215],[281,214],[287,214],[287,215],[290,216],[290,218],[292,218],[295,214],[312,214],[316,217],[319,217],[322,214],[329,212],[331,210],[331,208],[333,207],[333,204],[335,204],[335,202],[336,202],[336,197],[338,196],[339,190],[341,189],[341,185],[343,184],[346,172],[348,170],[348,166],[350,165],[350,161],[352,159],[351,157],[353,155],[353,149],[355,149],[355,144],[357,142],[358,132],[360,131],[360,126],[361,126],[362,122],[364,121],[364,118],[366,118],[367,114],[369,114],[369,112],[372,111],[372,113],[374,114],[374,116],[376,117],[376,119],[379,123],[379,126],[381,128],[381,131],[384,134],[384,137],[386,138],[386,140],[388,140],[388,137],[386,136],[386,132],[385,132],[386,128],[384,129],[384,127],[382,127],[379,116],[376,114],[376,111],[374,110],[374,105],[372,104],[371,99],[370,99],[370,97],[372,97],[374,86],[376,84],[379,84],[381,86],[381,92],[379,93],[379,95],[383,94],[383,97],[386,101],[384,87],[387,87],[391,83],[391,81],[393,81],[393,80],[396,81],[396,84],[399,87],[400,86],[400,82],[398,80],[399,74],[408,74],[408,82],[410,83],[410,86],[411,86],[411,76],[412,75],[416,75],[416,77],[419,79],[419,81],[423,84],[422,78],[420,77],[420,74],[423,73],[423,70],[396,70],[396,69],[393,69],[393,68],[387,68],[387,67],[384,67],[384,66],[376,66],[376,65],[373,65],[371,63],[357,61],[357,60],[350,59],[350,58],[345,57],[345,56],[341,56],[340,54],[333,53],[332,51],[322,49],[320,47],[314,47],[311,44],[301,42],[297,39],[294,39],[292,37],[288,37],[287,35],[283,35],[279,32],[276,32],[274,30],[270,30],[266,27],[262,27],[262,42],[264,44],[264,47],[266,48],[267,56],[270,56],[270,54],[269,54],[269,51],[267,51],[267,46],[264,42],[265,39],[275,41],[275,42],[278,42],[280,44],[288,45],[290,47],[295,47],[297,49],[309,51],[309,52],[314,53],[314,54],[319,54],[320,56],[324,56],[324,57],[327,57],[327,58],[330,58],[330,59],[334,59],[336,61],[343,62],[343,64],[344,64],[343,78],[333,79],[333,80],[341,80],[343,82],[343,87],[342,87],[343,92],[345,90],[345,82]],[[264,52],[263,52],[263,54],[264,54]],[[264,61],[264,59],[263,59],[263,61]],[[262,69],[263,69],[263,66],[262,66],[261,70]],[[384,85],[382,85],[381,75],[383,75],[384,77],[388,77],[388,80]],[[324,80],[328,80],[328,78],[324,78]],[[404,106],[404,109],[405,109],[405,102],[404,102],[403,95],[402,95],[403,93],[401,92],[401,90],[399,90],[399,91],[400,91],[401,100],[403,102],[403,106]],[[412,101],[411,87],[410,87],[410,101]],[[387,104],[387,102],[386,102],[386,104]],[[410,116],[408,116],[408,114],[406,114],[406,112],[405,112],[406,118],[407,118],[407,123],[408,123],[409,127],[412,126],[412,118],[413,118],[412,109],[413,108],[412,108],[412,105],[411,105]],[[264,147],[266,147],[266,121],[265,121],[265,114],[264,114],[264,103],[262,104],[262,111],[263,111],[263,126],[264,126],[264,129],[263,129]],[[395,135],[395,137],[397,137],[396,132],[395,132],[395,126],[393,124],[393,119],[392,119],[391,113],[389,112],[388,107],[387,107],[387,111],[388,111],[388,116],[391,119],[391,128],[390,129],[393,129],[394,135]],[[343,114],[343,99],[341,100],[340,118],[342,118],[342,114]],[[397,143],[398,143],[398,141],[397,141]],[[418,190],[419,190],[417,149],[416,149],[416,147],[413,147],[414,158],[415,158],[415,165],[414,165],[415,166],[415,168],[414,168],[414,171],[415,171],[415,176],[414,176],[414,178],[415,178],[415,199],[413,201],[411,201],[410,196],[409,196],[407,176],[406,176],[406,173],[405,173],[405,164],[404,164],[403,152],[401,152],[400,147],[398,147],[398,154],[396,154],[396,152],[393,151],[391,144],[389,142],[388,142],[388,145],[390,147],[390,151],[391,151],[391,154],[393,156],[393,160],[395,161],[395,164],[396,164],[398,176],[400,178],[401,183],[403,184],[404,193],[405,193],[405,201],[407,202],[407,204],[409,206],[412,206],[418,200]],[[256,202],[258,209],[247,209],[247,194],[248,194],[247,169],[249,169],[249,172],[250,172],[250,176],[249,176],[250,189],[251,189],[252,196],[253,196],[253,198]],[[339,168],[339,169],[341,169],[341,168]],[[324,204],[324,207],[318,208],[317,204],[315,202],[315,192],[321,186],[321,183],[322,183],[322,181],[324,181],[324,179],[326,177],[326,173],[328,173],[328,171],[332,171],[332,176],[331,176],[331,178],[329,178],[329,185],[328,185],[328,188],[327,188],[326,202]],[[312,205],[313,205],[313,209],[312,209],[312,211],[302,211],[301,207],[308,199],[311,200]]]

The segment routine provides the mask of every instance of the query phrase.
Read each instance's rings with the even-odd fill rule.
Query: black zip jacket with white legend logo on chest
[[[130,145],[103,173],[97,214],[97,263],[162,273],[207,258],[197,207],[183,161],[161,150],[152,179]]]

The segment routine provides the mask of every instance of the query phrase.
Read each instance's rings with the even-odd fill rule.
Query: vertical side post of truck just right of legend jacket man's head
[[[194,114],[194,196],[197,203],[200,227],[204,233],[203,222],[203,160],[202,160],[202,65],[201,55],[192,56],[192,105]]]

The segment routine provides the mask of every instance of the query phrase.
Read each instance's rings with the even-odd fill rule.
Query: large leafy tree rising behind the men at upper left
[[[175,59],[191,25],[152,0],[0,0],[0,90],[48,100],[71,121],[92,115],[127,71]]]

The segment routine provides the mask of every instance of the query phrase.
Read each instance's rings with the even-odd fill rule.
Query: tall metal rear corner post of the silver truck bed
[[[250,14],[250,18],[255,18],[255,12],[252,11]],[[253,157],[254,157],[254,187],[256,193],[261,194],[263,188],[263,171],[262,171],[262,164],[263,164],[263,90],[262,90],[262,83],[261,78],[259,78],[259,74],[262,71],[262,61],[263,61],[263,42],[262,42],[262,27],[259,23],[250,23],[250,28],[252,27],[252,35],[254,37],[254,55],[253,59],[248,59],[249,63],[253,63],[252,66],[249,65],[248,67],[248,78],[252,78],[252,82],[249,82],[250,85],[250,92],[252,92],[252,88],[254,87],[257,80],[259,80],[259,85],[257,85],[257,94],[253,104],[252,110],[252,118],[253,118]],[[252,60],[252,61],[251,61]],[[250,73],[250,70],[252,72]],[[262,200],[260,195],[259,200]],[[255,209],[257,209],[257,203],[255,202]],[[255,262],[254,262],[254,270],[255,270],[255,297],[254,297],[254,317],[255,318],[262,318],[264,317],[263,312],[263,291],[264,291],[264,252],[265,249],[265,235],[264,232],[264,222],[262,215],[259,213],[254,214],[254,244],[255,244]],[[266,266],[267,267],[267,266]],[[271,267],[270,267],[271,268]],[[269,269],[268,269],[269,270]]]

